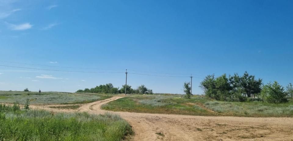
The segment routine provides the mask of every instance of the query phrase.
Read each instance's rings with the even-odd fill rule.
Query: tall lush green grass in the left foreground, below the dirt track
[[[131,126],[115,114],[52,113],[0,105],[0,140],[120,141]]]

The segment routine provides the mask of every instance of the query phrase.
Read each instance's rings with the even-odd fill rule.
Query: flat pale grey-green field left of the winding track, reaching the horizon
[[[110,97],[93,93],[42,92],[39,94],[31,91],[0,91],[0,103],[19,102],[24,104],[29,99],[31,104],[39,105],[79,104],[104,100]]]

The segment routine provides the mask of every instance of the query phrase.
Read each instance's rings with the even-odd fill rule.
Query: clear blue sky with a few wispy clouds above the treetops
[[[204,77],[248,71],[264,83],[293,82],[292,1],[0,1],[0,60]],[[166,75],[147,72],[143,74]],[[188,75],[173,75],[188,76]],[[189,77],[128,74],[128,84],[183,93]],[[193,93],[202,94],[201,78]],[[124,73],[55,72],[0,66],[0,90],[68,91],[113,83]]]

